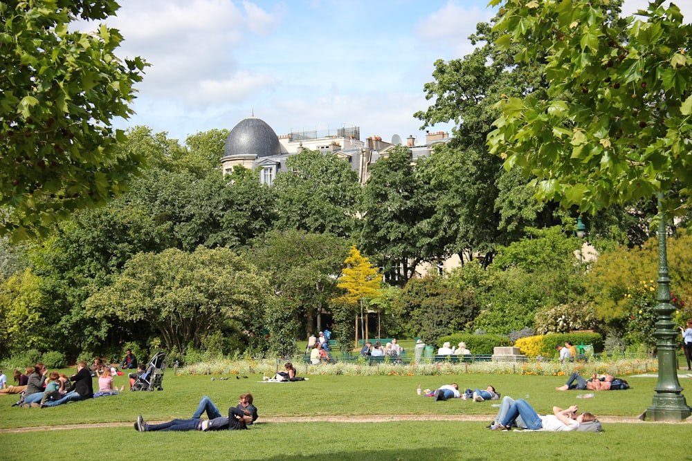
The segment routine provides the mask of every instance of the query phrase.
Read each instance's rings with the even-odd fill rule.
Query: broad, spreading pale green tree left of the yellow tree
[[[86,314],[144,322],[168,350],[199,348],[205,335],[264,304],[269,285],[245,258],[227,248],[171,248],[131,258],[113,283],[85,303]],[[249,320],[249,319],[248,319]]]

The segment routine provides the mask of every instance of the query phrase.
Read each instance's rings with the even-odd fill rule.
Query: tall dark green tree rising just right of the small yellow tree
[[[372,166],[359,205],[359,241],[391,283],[406,284],[425,259],[421,237],[429,232],[421,223],[432,216],[426,197],[406,147],[395,147]]]

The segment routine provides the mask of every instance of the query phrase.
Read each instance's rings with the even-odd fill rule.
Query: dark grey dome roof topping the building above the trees
[[[257,117],[241,120],[226,138],[224,156],[255,155],[257,158],[276,156],[281,145],[276,133],[264,120]]]

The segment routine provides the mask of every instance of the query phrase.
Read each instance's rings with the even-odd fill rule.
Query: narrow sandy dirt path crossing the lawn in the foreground
[[[374,416],[295,416],[295,417],[262,417],[255,424],[266,423],[291,423],[291,422],[392,422],[392,421],[472,421],[488,424],[495,415],[374,415]],[[603,416],[599,417],[603,424],[612,423],[636,423],[651,424],[634,416]],[[60,431],[64,429],[95,429],[101,427],[132,427],[134,422],[104,422],[95,424],[64,424],[61,426],[17,427],[0,429],[0,433],[8,432],[33,432],[33,431]],[[692,424],[692,418],[682,423]]]

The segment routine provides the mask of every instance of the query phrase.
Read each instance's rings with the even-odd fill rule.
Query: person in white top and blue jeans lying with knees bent
[[[522,424],[526,429],[549,432],[576,431],[579,429],[579,424],[596,420],[596,417],[591,413],[577,415],[578,410],[576,405],[566,409],[554,406],[552,415],[539,415],[525,399],[517,399],[509,404],[502,420],[491,425],[489,429],[491,431],[509,431],[511,426],[517,425],[519,417],[521,417]]]

